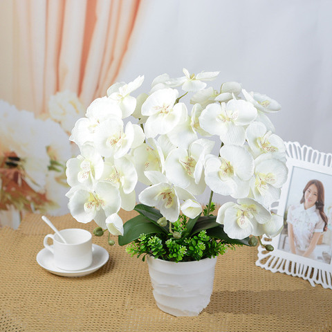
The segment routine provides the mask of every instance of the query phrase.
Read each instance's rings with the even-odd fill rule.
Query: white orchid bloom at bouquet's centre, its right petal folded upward
[[[165,171],[169,181],[178,187],[185,188],[194,195],[205,190],[203,165],[205,156],[212,151],[214,142],[201,138],[184,149],[173,149],[165,160]]]

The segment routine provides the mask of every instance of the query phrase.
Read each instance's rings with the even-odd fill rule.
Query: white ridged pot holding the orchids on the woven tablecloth
[[[196,316],[208,306],[216,257],[175,263],[147,256],[147,264],[160,310],[177,317]]]

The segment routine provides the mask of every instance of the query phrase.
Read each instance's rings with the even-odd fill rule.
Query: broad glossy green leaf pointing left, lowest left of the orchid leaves
[[[138,215],[129,219],[123,225],[123,235],[118,236],[118,243],[124,246],[132,241],[137,240],[141,234],[162,233],[163,229],[155,223],[152,223],[145,216]]]

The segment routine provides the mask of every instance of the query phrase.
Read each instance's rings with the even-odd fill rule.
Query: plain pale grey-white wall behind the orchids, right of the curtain
[[[119,81],[220,71],[282,104],[284,140],[332,152],[332,1],[143,0]],[[140,91],[142,92],[142,91]]]

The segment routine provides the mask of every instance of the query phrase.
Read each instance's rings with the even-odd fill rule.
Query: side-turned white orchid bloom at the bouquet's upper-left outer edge
[[[108,118],[121,118],[121,115],[120,107],[113,100],[107,97],[97,98],[86,110],[86,118],[77,120],[69,139],[79,147],[85,142],[93,142],[95,130],[100,123]]]

